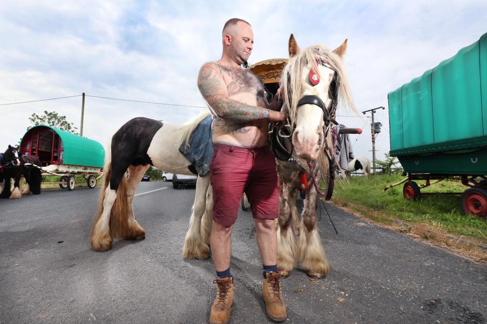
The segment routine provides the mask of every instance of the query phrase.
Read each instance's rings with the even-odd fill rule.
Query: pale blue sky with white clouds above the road
[[[182,124],[206,112],[198,71],[221,57],[221,30],[236,17],[254,30],[249,64],[288,57],[291,33],[301,48],[334,49],[347,39],[358,114],[339,106],[337,121],[364,129],[351,135],[354,154],[371,159],[370,118],[361,112],[386,107],[375,115],[382,123],[376,157],[383,159],[387,94],[487,32],[485,0],[1,2],[0,104],[78,95],[0,105],[2,152],[18,143],[33,113],[55,111],[80,128],[83,92],[83,135],[103,146],[133,117]]]

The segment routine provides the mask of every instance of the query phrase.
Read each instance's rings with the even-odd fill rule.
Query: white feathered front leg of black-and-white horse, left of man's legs
[[[183,257],[188,259],[208,259],[210,248],[201,236],[201,221],[206,209],[206,194],[210,186],[210,174],[199,177],[196,182],[193,212],[189,221],[189,230],[184,238]],[[205,224],[207,227],[207,224]],[[206,231],[206,228],[204,228]]]

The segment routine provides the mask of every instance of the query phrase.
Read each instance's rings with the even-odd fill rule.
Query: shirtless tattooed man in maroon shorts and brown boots
[[[286,320],[280,274],[277,271],[277,239],[274,220],[279,215],[279,182],[275,160],[267,148],[267,125],[286,115],[267,109],[264,87],[250,71],[241,68],[254,43],[251,25],[230,19],[223,27],[223,54],[205,63],[198,88],[210,106],[215,152],[210,165],[213,186],[213,229],[210,237],[217,272],[217,297],[210,323],[230,321],[233,277],[230,273],[231,232],[240,199],[249,198],[257,233],[264,280],[262,297],[266,313],[274,321]]]

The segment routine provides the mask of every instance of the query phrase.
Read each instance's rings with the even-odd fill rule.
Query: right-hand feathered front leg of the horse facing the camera
[[[301,220],[298,251],[301,267],[313,278],[323,278],[330,271],[330,264],[318,234],[316,218],[316,190],[311,187],[306,195]]]

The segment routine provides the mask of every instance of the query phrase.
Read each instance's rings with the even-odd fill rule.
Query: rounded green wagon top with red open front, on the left
[[[34,126],[24,134],[20,152],[39,157],[41,166],[63,164],[101,168],[105,160],[105,150],[99,142],[46,125]]]

